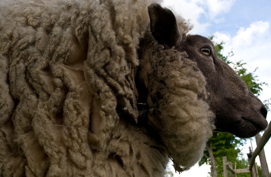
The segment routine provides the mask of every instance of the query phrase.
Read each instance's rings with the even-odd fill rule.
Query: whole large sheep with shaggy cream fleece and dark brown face
[[[210,40],[151,3],[0,2],[1,176],[159,177],[213,130],[267,127]]]

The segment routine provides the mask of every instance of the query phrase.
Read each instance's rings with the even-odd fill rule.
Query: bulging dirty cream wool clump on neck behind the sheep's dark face
[[[214,114],[203,101],[207,98],[204,76],[185,52],[174,47],[165,50],[150,31],[141,46],[140,61],[149,124],[159,133],[175,169],[188,169],[202,157],[214,129]]]

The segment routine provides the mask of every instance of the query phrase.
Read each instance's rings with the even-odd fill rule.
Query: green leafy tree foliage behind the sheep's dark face
[[[210,37],[213,40],[213,37]],[[259,96],[260,92],[263,90],[262,86],[267,85],[265,82],[260,82],[255,76],[255,71],[248,72],[245,68],[245,62],[243,60],[233,63],[229,61],[229,57],[233,56],[233,52],[228,53],[227,56],[223,56],[221,53],[223,50],[223,44],[214,43],[216,48],[217,56],[225,61],[226,63],[233,66],[232,68],[235,72],[245,81],[245,83],[250,88],[251,92],[254,95]],[[266,107],[270,105],[269,100],[264,101]],[[222,177],[223,176],[223,156],[227,156],[228,161],[231,161],[233,164],[237,163],[238,168],[247,168],[248,162],[242,158],[240,147],[245,143],[244,139],[240,139],[232,134],[225,132],[214,132],[213,137],[208,141],[206,149],[204,151],[204,156],[199,165],[204,163],[211,165],[211,176],[212,177]],[[241,160],[240,160],[241,159]],[[249,173],[238,174],[239,177],[249,177]]]

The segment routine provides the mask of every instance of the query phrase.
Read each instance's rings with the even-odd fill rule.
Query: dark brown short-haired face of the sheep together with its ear
[[[245,82],[216,56],[213,43],[206,37],[180,33],[174,14],[159,4],[148,7],[151,32],[165,48],[185,51],[205,76],[208,94],[205,100],[216,114],[217,131],[241,138],[252,137],[266,129],[267,110]]]

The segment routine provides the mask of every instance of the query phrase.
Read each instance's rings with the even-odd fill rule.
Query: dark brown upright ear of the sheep
[[[181,35],[172,11],[162,8],[160,4],[153,3],[148,6],[148,12],[151,20],[151,33],[154,38],[159,44],[175,46]]]

